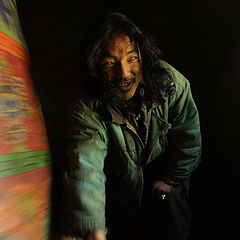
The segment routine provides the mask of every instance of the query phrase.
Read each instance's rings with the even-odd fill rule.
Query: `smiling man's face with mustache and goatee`
[[[121,31],[113,32],[98,61],[106,79],[120,90],[123,100],[135,94],[142,75],[141,57],[135,42]]]

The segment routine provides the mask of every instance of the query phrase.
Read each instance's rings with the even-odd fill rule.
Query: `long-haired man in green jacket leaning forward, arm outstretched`
[[[201,135],[189,82],[125,15],[89,37],[87,96],[71,112],[63,234],[72,239],[187,239]]]

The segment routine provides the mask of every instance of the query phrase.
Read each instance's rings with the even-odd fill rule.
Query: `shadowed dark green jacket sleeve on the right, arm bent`
[[[165,152],[166,179],[179,182],[190,176],[201,159],[200,122],[189,81],[171,67],[176,92],[169,97],[168,122],[172,125]]]

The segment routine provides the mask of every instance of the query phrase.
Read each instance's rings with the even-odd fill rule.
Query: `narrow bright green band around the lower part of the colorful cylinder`
[[[48,149],[2,155],[0,156],[0,178],[46,167],[50,163],[51,156]]]

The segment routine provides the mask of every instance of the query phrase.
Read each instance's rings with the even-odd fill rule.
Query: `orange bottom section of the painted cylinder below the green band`
[[[2,178],[0,239],[48,239],[50,168]]]

